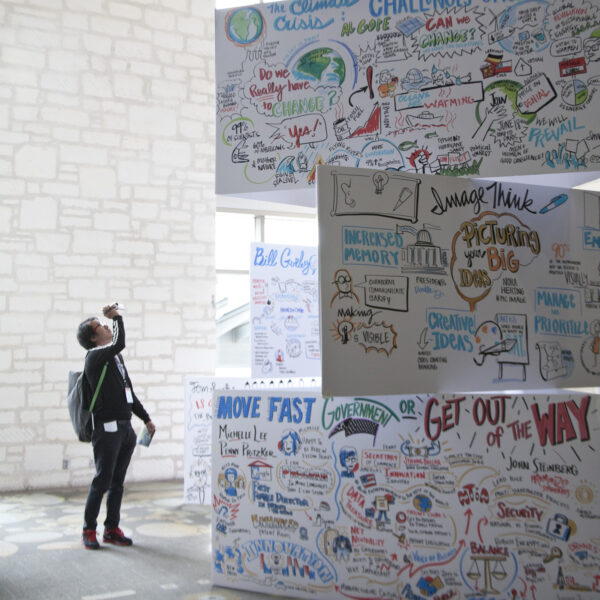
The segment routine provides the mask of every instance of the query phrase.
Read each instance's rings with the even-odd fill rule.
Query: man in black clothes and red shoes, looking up
[[[92,390],[96,389],[106,365],[92,413],[96,475],[85,505],[81,536],[83,545],[89,550],[100,547],[96,526],[105,493],[106,520],[102,541],[118,546],[131,546],[133,543],[119,528],[123,482],[136,445],[136,435],[131,427],[132,413],[146,424],[150,435],[155,431],[154,423],[133,393],[131,379],[120,354],[125,348],[125,327],[118,305],[105,306],[102,312],[112,319],[112,331],[95,317],[83,321],[77,331],[77,340],[88,350],[84,373]]]

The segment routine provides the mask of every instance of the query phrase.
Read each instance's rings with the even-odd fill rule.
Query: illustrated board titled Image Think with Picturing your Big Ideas
[[[600,195],[319,167],[324,395],[600,378]]]

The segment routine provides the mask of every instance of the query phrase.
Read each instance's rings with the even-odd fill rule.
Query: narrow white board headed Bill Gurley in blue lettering
[[[253,243],[253,377],[320,377],[317,249]]]

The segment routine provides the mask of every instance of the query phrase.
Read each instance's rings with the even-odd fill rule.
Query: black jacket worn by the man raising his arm
[[[92,394],[98,385],[102,368],[108,362],[106,375],[100,388],[93,414],[94,420],[102,423],[115,420],[129,420],[131,414],[138,416],[144,423],[150,421],[148,413],[144,410],[142,403],[133,392],[131,379],[125,368],[121,357],[121,350],[125,348],[125,326],[123,317],[120,315],[113,319],[113,341],[107,346],[98,346],[88,351],[85,357],[84,372],[92,390]],[[117,366],[116,361],[121,361],[125,372],[125,380]],[[127,382],[127,383],[125,383]],[[127,403],[125,385],[131,388],[133,404]]]

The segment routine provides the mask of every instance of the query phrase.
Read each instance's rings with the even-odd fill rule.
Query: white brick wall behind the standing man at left
[[[213,7],[0,3],[0,491],[89,484],[67,371],[112,300],[158,427],[129,479],[183,478],[183,378],[215,360]]]

